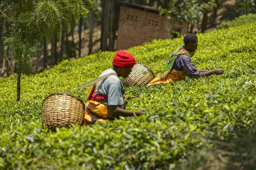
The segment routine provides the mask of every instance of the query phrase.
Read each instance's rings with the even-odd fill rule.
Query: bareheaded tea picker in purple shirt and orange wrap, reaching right
[[[184,80],[186,76],[199,77],[224,73],[224,71],[219,68],[211,71],[196,69],[195,65],[192,63],[191,57],[195,54],[195,50],[198,47],[198,37],[194,34],[186,34],[183,41],[184,45],[181,45],[170,54],[169,62],[162,74],[149,82],[148,87],[153,84],[168,84],[170,82],[181,81]]]

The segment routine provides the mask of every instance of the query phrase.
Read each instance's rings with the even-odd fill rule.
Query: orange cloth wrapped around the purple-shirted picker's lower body
[[[186,75],[187,74],[184,71],[176,71],[172,69],[168,74],[168,76],[166,77],[166,79],[162,79],[157,76],[153,80],[151,80],[151,82],[149,82],[147,86],[149,87],[153,84],[160,85],[161,83],[169,84],[170,82],[178,82],[178,81],[184,80],[186,78]]]

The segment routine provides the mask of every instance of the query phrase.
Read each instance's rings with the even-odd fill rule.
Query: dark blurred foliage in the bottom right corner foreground
[[[230,133],[235,134],[236,137],[208,139],[215,145],[210,147],[206,144],[196,153],[190,153],[191,159],[177,164],[176,168],[179,170],[255,170],[255,128],[251,130],[235,128]]]

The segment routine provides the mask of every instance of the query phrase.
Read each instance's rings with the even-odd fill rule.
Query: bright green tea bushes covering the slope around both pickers
[[[255,127],[255,32],[256,23],[250,22],[198,34],[195,66],[222,68],[225,74],[125,88],[127,109],[145,108],[146,114],[104,125],[52,133],[42,127],[41,107],[49,94],[71,91],[111,68],[115,52],[64,60],[43,73],[23,75],[20,102],[15,101],[17,75],[1,78],[0,169],[173,169],[204,147],[203,139],[232,137],[235,127]],[[181,44],[182,38],[154,40],[127,51],[153,67]],[[160,74],[165,66],[152,70]],[[70,93],[86,102],[89,90]]]

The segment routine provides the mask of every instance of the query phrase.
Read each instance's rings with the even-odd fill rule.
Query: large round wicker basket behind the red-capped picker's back
[[[54,93],[44,99],[42,122],[47,128],[81,125],[84,118],[84,103],[71,94]]]

